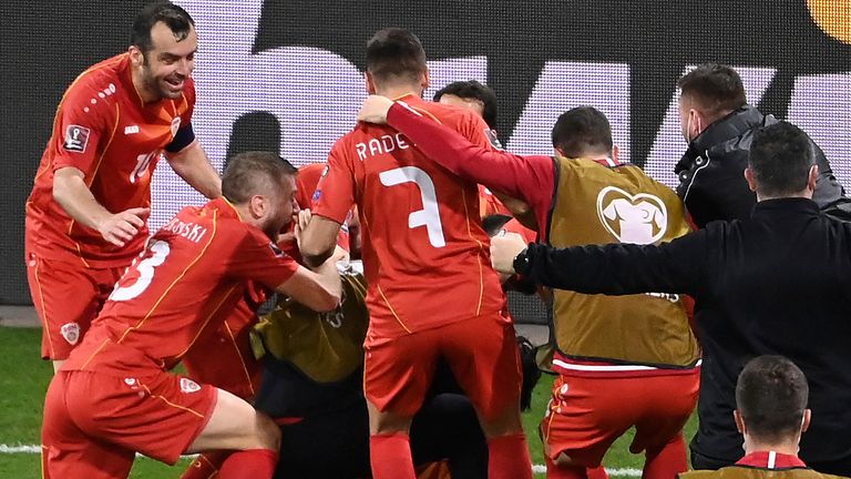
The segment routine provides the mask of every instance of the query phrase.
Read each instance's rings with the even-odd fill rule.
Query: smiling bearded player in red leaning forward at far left
[[[208,198],[222,182],[192,130],[197,34],[181,7],[157,2],[133,23],[126,53],[80,74],[57,109],[27,201],[27,272],[59,368],[147,240],[161,155]]]

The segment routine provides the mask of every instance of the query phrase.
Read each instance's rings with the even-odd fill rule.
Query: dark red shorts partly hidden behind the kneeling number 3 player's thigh
[[[212,336],[194,344],[183,357],[188,376],[253,401],[263,375],[248,337],[256,323],[245,303],[237,306]]]

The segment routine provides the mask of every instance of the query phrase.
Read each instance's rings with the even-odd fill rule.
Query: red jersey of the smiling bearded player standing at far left
[[[151,206],[151,175],[181,125],[188,128],[195,85],[178,100],[144,104],[131,80],[130,55],[104,60],[69,86],[53,120],[35,184],[27,201],[28,248],[51,259],[117,266],[144,247],[147,227],[117,247],[72,220],[53,200],[53,172],[73,166],[94,198],[112,213]]]

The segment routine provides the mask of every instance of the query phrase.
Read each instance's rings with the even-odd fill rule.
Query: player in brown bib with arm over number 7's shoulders
[[[386,120],[450,171],[529,203],[548,244],[656,244],[690,230],[670,188],[619,162],[608,120],[592,106],[558,118],[555,157],[476,149],[378,96],[365,102],[360,119]],[[633,426],[630,450],[646,452],[646,477],[685,471],[681,428],[697,399],[700,356],[683,298],[561,291],[554,292],[553,310],[552,366],[558,378],[541,424],[547,477],[605,475],[603,456]]]

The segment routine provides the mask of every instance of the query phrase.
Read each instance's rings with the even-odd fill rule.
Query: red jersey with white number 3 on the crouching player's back
[[[248,279],[275,288],[297,268],[226,200],[185,207],[119,281],[64,368],[168,369],[222,326]]]

